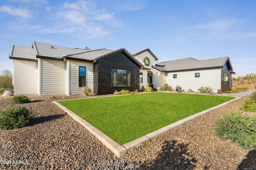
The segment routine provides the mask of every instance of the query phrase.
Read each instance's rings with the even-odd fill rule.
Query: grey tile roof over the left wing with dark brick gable
[[[96,62],[100,59],[103,59],[116,53],[124,53],[132,61],[137,63],[141,68],[144,68],[144,65],[141,64],[140,61],[138,61],[124,48],[118,49],[116,51],[110,49],[78,49],[40,43],[35,41],[32,42],[32,48],[12,45],[9,52],[9,58],[33,61],[37,60],[38,58],[43,58],[62,61],[69,59]]]

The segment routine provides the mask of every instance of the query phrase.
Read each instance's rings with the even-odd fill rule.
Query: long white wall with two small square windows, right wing
[[[196,78],[195,73],[200,73],[200,77]],[[173,78],[173,74],[177,74],[177,78]],[[221,89],[221,69],[169,72],[166,83],[174,89],[179,85],[182,90],[192,89],[194,92],[198,92],[201,86],[210,86],[214,88],[214,92],[217,92]]]

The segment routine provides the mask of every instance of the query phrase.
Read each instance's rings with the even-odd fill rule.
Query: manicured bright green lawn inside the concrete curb
[[[156,92],[58,102],[123,145],[232,99]]]

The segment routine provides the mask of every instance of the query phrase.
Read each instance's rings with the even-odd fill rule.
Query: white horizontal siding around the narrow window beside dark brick
[[[78,69],[79,66],[86,67],[86,85],[93,91],[93,63],[70,61],[70,95],[83,94],[82,87],[78,87]]]

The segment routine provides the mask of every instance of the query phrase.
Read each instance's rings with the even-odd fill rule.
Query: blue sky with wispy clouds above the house
[[[158,62],[230,57],[256,73],[255,0],[4,0],[0,71],[13,73],[10,46],[32,41],[72,48],[149,48]]]

